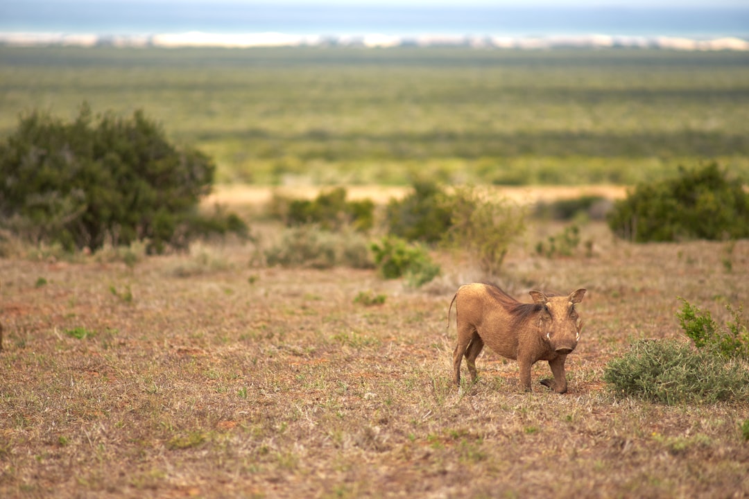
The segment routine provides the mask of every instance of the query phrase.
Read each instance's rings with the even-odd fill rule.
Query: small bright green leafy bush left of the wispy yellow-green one
[[[440,266],[434,263],[421,245],[413,245],[404,239],[388,236],[380,244],[370,246],[375,255],[375,266],[386,279],[406,278],[411,287],[420,287],[440,274]]]

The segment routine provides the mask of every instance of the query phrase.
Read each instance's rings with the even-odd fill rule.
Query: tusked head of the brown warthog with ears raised
[[[583,322],[577,316],[574,304],[582,301],[585,291],[577,290],[569,296],[546,296],[540,291],[530,292],[533,301],[543,306],[539,313],[539,331],[554,352],[568,354],[577,346]]]

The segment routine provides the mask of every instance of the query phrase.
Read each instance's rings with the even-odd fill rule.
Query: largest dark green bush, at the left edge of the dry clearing
[[[198,213],[214,171],[198,150],[170,144],[142,111],[94,117],[82,105],[71,123],[33,111],[0,143],[1,223],[67,250],[145,240],[161,252],[203,230],[243,233],[235,215],[211,221]]]

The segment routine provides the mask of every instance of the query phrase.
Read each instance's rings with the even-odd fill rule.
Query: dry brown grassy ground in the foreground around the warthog
[[[548,366],[526,394],[491,352],[475,386],[452,386],[447,307],[482,276],[448,254],[420,290],[253,266],[253,245],[0,260],[0,496],[749,495],[749,401],[668,407],[602,382],[632,340],[682,337],[677,296],[719,321],[746,304],[749,242],[631,245],[592,223],[592,254],[549,260],[530,250],[549,230],[497,281],[526,300],[589,290],[561,396],[538,384]]]

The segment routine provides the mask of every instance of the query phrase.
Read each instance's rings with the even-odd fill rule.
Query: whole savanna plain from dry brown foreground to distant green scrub
[[[535,200],[552,192],[539,184],[620,193],[703,159],[748,168],[743,54],[0,55],[3,136],[34,107],[143,108],[216,158],[224,191],[402,188],[420,174]],[[529,216],[497,275],[435,247],[442,272],[414,288],[375,269],[268,266],[282,224],[230,201],[252,240],[160,256],[4,249],[1,497],[749,496],[749,401],[661,405],[603,381],[634,340],[688,341],[679,297],[718,322],[746,304],[749,241],[633,244],[583,217],[585,244],[548,255],[536,244],[565,222]],[[448,306],[483,279],[521,301],[588,290],[567,394],[539,384],[543,362],[521,391],[515,362],[491,351],[476,384],[452,385]]]

